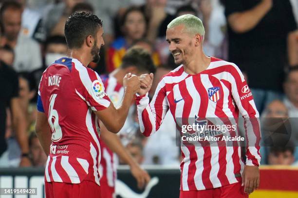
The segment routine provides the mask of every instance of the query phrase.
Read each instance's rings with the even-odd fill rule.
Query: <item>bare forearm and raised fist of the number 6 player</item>
[[[127,74],[123,82],[125,92],[121,105],[115,108],[111,103],[107,109],[95,112],[107,129],[113,133],[119,132],[123,127],[130,109],[131,101],[135,93],[140,89],[140,80],[137,76]]]

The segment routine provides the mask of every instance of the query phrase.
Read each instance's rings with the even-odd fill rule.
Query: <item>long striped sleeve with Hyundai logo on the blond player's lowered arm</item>
[[[246,136],[246,165],[260,165],[260,141],[261,130],[259,112],[256,108],[252,93],[238,66],[233,65],[235,70],[231,80],[233,99],[244,118]]]

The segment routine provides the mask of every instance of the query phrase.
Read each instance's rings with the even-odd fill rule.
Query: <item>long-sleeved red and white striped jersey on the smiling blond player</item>
[[[150,104],[147,96],[137,97],[137,110],[145,136],[159,129],[168,110],[177,128],[182,125],[177,118],[238,118],[239,112],[243,117],[259,117],[238,66],[213,57],[210,65],[198,74],[187,74],[182,65],[165,75]],[[249,141],[260,141],[259,122],[247,135]],[[247,147],[246,165],[260,165],[259,149],[257,145]],[[244,164],[238,146],[199,147],[182,143],[181,153],[180,190],[212,189],[241,181]]]

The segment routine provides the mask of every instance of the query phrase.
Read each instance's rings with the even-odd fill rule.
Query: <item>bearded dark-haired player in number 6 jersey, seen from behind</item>
[[[47,198],[100,198],[99,119],[117,133],[126,120],[137,76],[123,78],[124,97],[115,108],[99,75],[88,68],[99,60],[102,21],[86,12],[72,14],[65,23],[71,58],[62,57],[42,75],[37,99],[36,132],[48,155],[45,167]]]

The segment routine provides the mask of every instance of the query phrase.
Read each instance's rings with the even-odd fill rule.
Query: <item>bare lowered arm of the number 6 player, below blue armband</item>
[[[43,151],[48,156],[50,146],[52,144],[52,133],[48,124],[47,116],[42,112],[37,112],[35,130]]]

